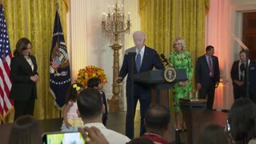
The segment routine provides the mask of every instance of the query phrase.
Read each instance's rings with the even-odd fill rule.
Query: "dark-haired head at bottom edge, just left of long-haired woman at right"
[[[199,134],[198,144],[229,144],[227,134],[222,126],[212,123]]]

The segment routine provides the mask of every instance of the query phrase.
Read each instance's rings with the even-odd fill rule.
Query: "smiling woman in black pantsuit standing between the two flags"
[[[39,81],[36,59],[31,55],[31,42],[21,38],[16,44],[14,58],[10,62],[10,78],[13,85],[10,98],[14,100],[14,120],[22,115],[33,115],[37,98],[36,82]]]

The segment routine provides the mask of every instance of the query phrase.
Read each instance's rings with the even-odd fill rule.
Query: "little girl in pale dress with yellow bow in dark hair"
[[[76,131],[78,126],[83,126],[82,119],[78,117],[77,97],[83,90],[81,83],[74,83],[70,85],[66,94],[66,106],[64,108],[64,120],[62,124],[62,131]]]

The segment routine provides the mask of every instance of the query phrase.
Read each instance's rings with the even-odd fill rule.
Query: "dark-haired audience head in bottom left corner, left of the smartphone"
[[[18,117],[10,131],[9,144],[42,143],[42,128],[38,120],[30,115]]]

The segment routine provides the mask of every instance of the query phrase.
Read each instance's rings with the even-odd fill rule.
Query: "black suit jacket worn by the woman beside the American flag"
[[[38,74],[36,59],[30,55],[34,64],[34,70],[23,56],[16,56],[10,62],[10,78],[13,85],[10,90],[10,98],[15,101],[26,101],[30,98],[37,98],[36,83],[30,80],[30,76]]]

